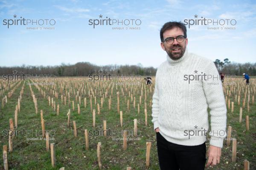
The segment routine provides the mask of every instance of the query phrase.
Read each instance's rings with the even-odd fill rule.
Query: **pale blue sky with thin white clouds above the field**
[[[56,23],[52,26],[54,30],[27,29],[35,25],[10,25],[8,29],[3,25],[4,20],[20,17],[53,19]],[[93,29],[89,25],[90,19],[106,17],[141,20],[138,26],[129,25],[140,29],[112,29],[126,27],[120,25]],[[190,19],[192,23],[201,17],[220,23],[190,25],[190,28],[187,25],[189,52],[212,61],[229,58],[238,63],[256,62],[253,52],[256,47],[256,3],[253,0],[0,0],[0,66],[90,62],[97,65],[141,63],[158,67],[166,60],[166,52],[160,47],[161,26],[172,20]],[[221,30],[223,20],[223,26],[232,29]],[[230,20],[233,23],[229,23]],[[218,30],[209,30],[212,27]]]

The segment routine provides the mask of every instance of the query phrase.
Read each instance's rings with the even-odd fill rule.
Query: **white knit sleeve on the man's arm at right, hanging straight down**
[[[227,107],[224,93],[219,79],[218,70],[213,62],[205,69],[206,78],[203,81],[204,93],[210,109],[211,131],[209,132],[210,145],[223,147],[224,138],[227,136]],[[211,78],[210,78],[211,77]]]

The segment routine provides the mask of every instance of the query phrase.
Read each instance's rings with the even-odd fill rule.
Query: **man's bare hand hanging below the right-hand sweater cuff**
[[[221,147],[215,147],[210,145],[207,151],[207,157],[208,157],[208,161],[207,161],[206,167],[208,167],[209,165],[214,166],[220,163]]]

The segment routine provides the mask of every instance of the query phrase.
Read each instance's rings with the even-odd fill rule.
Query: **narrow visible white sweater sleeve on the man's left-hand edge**
[[[158,113],[159,113],[159,93],[158,93],[158,78],[156,74],[154,95],[152,97],[152,122],[154,123],[154,130],[158,126]]]

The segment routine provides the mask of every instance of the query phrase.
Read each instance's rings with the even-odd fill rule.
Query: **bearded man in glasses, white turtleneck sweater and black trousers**
[[[152,100],[160,168],[204,170],[207,137],[210,137],[208,167],[220,162],[227,135],[221,80],[212,61],[188,52],[183,23],[165,23],[160,38],[167,60],[157,69]]]

